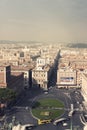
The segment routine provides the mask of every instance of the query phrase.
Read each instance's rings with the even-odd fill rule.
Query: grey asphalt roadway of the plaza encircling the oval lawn
[[[63,123],[59,123],[57,126],[51,124],[37,125],[37,119],[35,119],[31,114],[31,105],[34,100],[38,100],[40,98],[56,98],[60,99],[65,104],[65,113],[62,117],[68,118],[68,113],[70,111],[71,104],[74,104],[74,108],[77,109],[73,116],[66,121],[68,126],[63,126]],[[77,103],[79,101],[79,104]],[[33,123],[36,125],[34,130],[65,130],[70,129],[71,124],[74,128],[78,128],[77,130],[83,130],[83,124],[80,120],[80,115],[82,113],[81,110],[81,102],[82,97],[80,93],[75,93],[73,90],[64,90],[51,88],[48,94],[44,94],[42,90],[32,89],[26,90],[25,93],[20,97],[20,99],[16,102],[16,104],[6,111],[6,121],[10,123],[12,121],[12,117],[15,116],[15,122],[21,122],[21,124]],[[60,117],[61,118],[61,117]]]

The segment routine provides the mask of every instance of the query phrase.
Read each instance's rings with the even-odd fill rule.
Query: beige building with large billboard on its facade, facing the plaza
[[[76,71],[71,68],[62,68],[57,71],[57,85],[58,88],[76,87]]]

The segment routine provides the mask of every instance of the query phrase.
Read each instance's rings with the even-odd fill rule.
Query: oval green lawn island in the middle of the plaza
[[[64,113],[64,103],[58,99],[44,98],[33,103],[32,114],[38,119],[48,120]]]

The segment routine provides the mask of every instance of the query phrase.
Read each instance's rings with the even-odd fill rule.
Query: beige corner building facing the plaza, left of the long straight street
[[[52,68],[49,65],[40,66],[32,70],[32,87],[48,88]]]

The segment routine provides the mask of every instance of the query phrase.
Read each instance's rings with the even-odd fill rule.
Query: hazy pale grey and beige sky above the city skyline
[[[87,0],[0,0],[0,40],[87,42]]]

